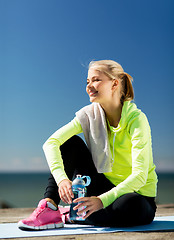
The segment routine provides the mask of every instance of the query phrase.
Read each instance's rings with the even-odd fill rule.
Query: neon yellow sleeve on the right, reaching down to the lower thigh
[[[138,192],[147,181],[152,149],[151,132],[146,116],[141,113],[135,117],[129,122],[127,130],[132,143],[132,173],[116,187],[99,196],[104,207],[126,193]]]

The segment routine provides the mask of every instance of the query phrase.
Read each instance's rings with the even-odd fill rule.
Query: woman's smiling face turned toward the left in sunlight
[[[110,101],[113,93],[113,81],[103,72],[91,67],[88,71],[86,86],[90,102],[102,104]]]

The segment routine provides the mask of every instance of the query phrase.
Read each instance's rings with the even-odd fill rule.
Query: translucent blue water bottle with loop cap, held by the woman
[[[83,180],[84,178],[86,178],[86,183],[85,181]],[[74,199],[76,198],[79,198],[79,197],[85,197],[86,196],[86,193],[87,193],[87,190],[86,190],[86,187],[91,183],[91,178],[89,176],[81,176],[81,175],[77,175],[76,178],[74,179],[74,181],[72,182],[72,191],[73,191],[73,194],[74,194]],[[73,208],[79,204],[80,202],[78,203],[71,203],[71,206],[70,206],[70,220],[76,220],[76,221],[84,221],[85,219],[83,219],[83,217],[86,215],[86,213],[83,213],[82,215],[77,215],[77,212],[78,210],[73,210]],[[81,208],[79,209],[82,210],[84,209]]]

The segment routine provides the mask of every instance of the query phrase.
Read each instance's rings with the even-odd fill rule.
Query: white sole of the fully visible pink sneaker
[[[46,224],[42,226],[29,226],[24,224],[22,221],[18,222],[18,228],[21,230],[46,230],[46,229],[55,229],[55,228],[62,228],[64,227],[64,223],[52,223]]]

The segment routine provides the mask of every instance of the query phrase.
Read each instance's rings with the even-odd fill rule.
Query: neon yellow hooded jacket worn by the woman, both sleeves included
[[[155,197],[157,175],[153,164],[151,130],[145,114],[137,109],[134,103],[126,101],[118,127],[114,128],[108,121],[107,123],[114,162],[112,172],[104,175],[115,187],[99,196],[104,207],[130,192]],[[60,146],[81,132],[82,127],[75,117],[57,130],[43,145],[48,165],[57,184],[68,178],[64,171]]]

